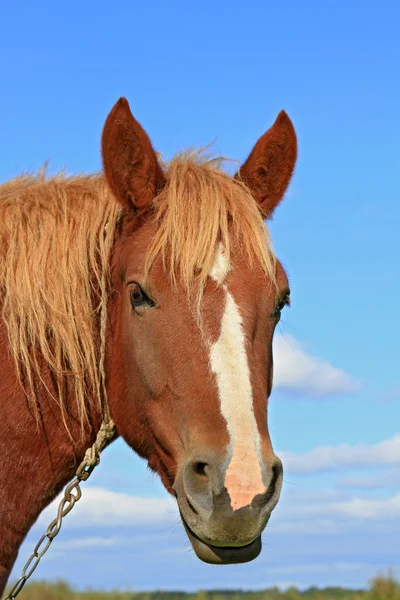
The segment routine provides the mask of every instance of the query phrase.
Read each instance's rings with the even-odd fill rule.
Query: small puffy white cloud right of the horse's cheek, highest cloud
[[[290,335],[274,339],[274,386],[313,396],[353,392],[359,388],[350,375],[308,354]]]

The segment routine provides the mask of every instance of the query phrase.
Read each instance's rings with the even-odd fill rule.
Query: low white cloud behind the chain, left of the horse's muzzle
[[[60,499],[61,495],[42,512],[38,525],[46,527],[54,518]],[[82,498],[66,521],[69,527],[133,527],[171,521],[176,516],[176,502],[168,496],[142,498],[83,485]]]

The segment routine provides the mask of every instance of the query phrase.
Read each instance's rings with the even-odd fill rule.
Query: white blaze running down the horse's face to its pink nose
[[[220,248],[210,276],[221,283],[229,265]],[[265,493],[262,480],[260,434],[253,410],[253,393],[247,360],[242,317],[224,285],[225,310],[219,339],[210,346],[210,364],[215,373],[221,413],[226,420],[230,443],[229,465],[225,475],[233,509],[251,503],[254,496]]]

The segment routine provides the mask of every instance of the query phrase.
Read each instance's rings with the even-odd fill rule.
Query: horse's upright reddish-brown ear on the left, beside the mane
[[[164,185],[150,139],[120,98],[107,117],[101,140],[107,182],[123,206],[143,211]]]

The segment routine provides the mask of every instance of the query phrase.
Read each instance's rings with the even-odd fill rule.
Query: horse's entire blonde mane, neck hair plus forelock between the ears
[[[158,228],[146,269],[161,256],[172,284],[179,274],[198,308],[219,243],[229,261],[235,241],[275,282],[258,205],[220,163],[201,153],[175,157],[164,165],[166,186],[153,205]],[[107,402],[103,359],[118,211],[100,175],[50,178],[43,169],[0,186],[0,307],[11,356],[36,411],[47,365],[65,420],[68,378],[82,427],[88,407],[102,413]]]

